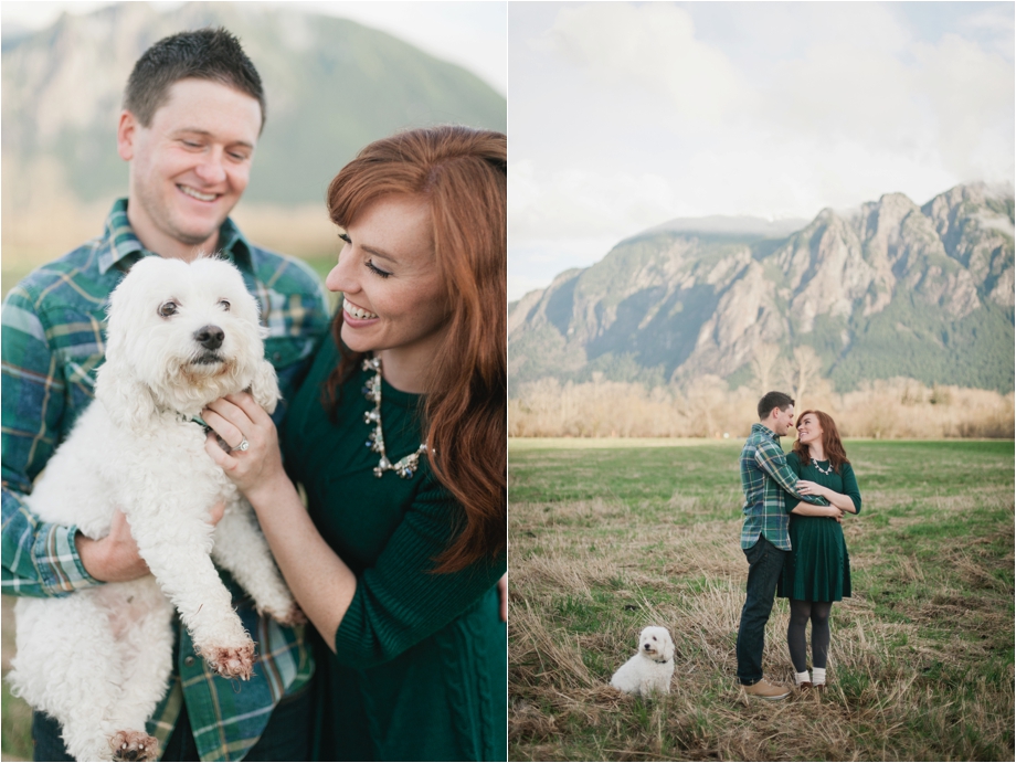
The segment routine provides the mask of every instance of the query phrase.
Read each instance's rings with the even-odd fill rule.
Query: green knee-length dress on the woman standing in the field
[[[839,474],[835,470],[823,474],[814,463],[802,464],[796,453],[789,453],[786,465],[798,479],[849,496],[860,513],[860,490],[849,464],[842,464]],[[818,462],[818,466],[829,470],[829,462]],[[798,502],[787,496],[787,512]],[[791,552],[783,564],[777,589],[784,598],[805,602],[838,602],[850,595],[850,557],[839,522],[828,517],[791,515]]]

